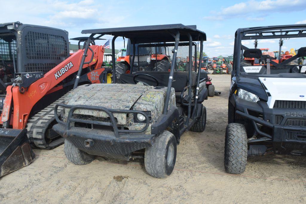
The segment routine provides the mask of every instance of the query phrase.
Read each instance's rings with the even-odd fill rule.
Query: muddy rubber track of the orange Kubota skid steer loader
[[[27,125],[25,126],[28,129],[28,138],[32,145],[37,148],[42,149],[53,149],[64,143],[64,138],[59,137],[55,140],[52,140],[51,143],[47,144],[45,140],[45,133],[49,125],[54,122],[54,107],[56,104],[62,103],[65,100],[65,97],[70,93],[66,93],[64,96],[54,101],[54,103],[45,107],[43,110],[33,115],[28,119]],[[62,107],[58,107],[58,115],[60,115]]]

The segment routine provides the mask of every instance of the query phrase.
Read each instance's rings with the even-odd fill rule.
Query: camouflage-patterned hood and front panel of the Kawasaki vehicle
[[[129,110],[139,97],[151,88],[151,86],[136,84],[82,85],[66,97],[65,104],[102,106],[109,109]],[[68,112],[69,110],[65,109],[65,117],[68,116]],[[108,117],[103,111],[76,110],[74,113],[102,118]],[[114,113],[114,117],[118,119],[118,124],[126,124],[126,114]]]

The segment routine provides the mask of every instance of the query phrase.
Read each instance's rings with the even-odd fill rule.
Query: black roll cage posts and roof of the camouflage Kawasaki
[[[74,83],[73,89],[75,89],[78,85],[80,80],[81,71],[84,64],[88,64],[90,62],[85,62],[85,58],[88,53],[88,49],[93,52],[89,45],[96,39],[101,38],[103,35],[113,35],[112,39],[112,48],[115,47],[115,39],[117,37],[124,37],[129,38],[133,44],[133,56],[132,56],[132,63],[131,63],[131,70],[135,60],[135,44],[141,43],[157,43],[157,42],[174,42],[174,50],[173,50],[173,60],[171,62],[171,68],[169,73],[169,80],[166,92],[166,99],[163,108],[163,114],[167,114],[167,108],[170,100],[170,90],[172,86],[173,76],[174,76],[174,69],[176,64],[176,56],[177,56],[177,48],[179,42],[189,42],[189,59],[192,59],[192,41],[200,41],[200,59],[203,56],[203,41],[206,41],[206,34],[202,31],[196,29],[195,25],[192,26],[185,26],[183,24],[168,24],[168,25],[154,25],[154,26],[137,26],[137,27],[120,27],[120,28],[106,28],[106,29],[93,29],[93,30],[83,30],[82,34],[91,34],[85,45],[84,54],[80,63],[80,67],[76,76],[76,81]],[[94,37],[98,35],[97,37]],[[92,55],[93,56],[93,55]],[[115,61],[115,49],[112,49],[112,61]],[[191,72],[192,72],[192,60],[189,60],[189,69],[188,69],[188,95],[191,96]],[[113,63],[113,81],[114,83],[117,82],[116,77],[116,64]],[[201,67],[201,60],[199,62],[199,67],[197,71],[197,82],[196,82],[196,93],[195,93],[195,104],[198,100],[199,95],[199,83],[200,83],[200,68]],[[197,106],[195,106],[195,110],[191,115],[191,97],[188,103],[188,119],[186,122],[189,121],[190,118],[195,117]]]

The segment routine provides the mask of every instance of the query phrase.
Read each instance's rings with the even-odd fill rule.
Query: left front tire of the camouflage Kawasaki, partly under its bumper
[[[69,140],[65,140],[64,152],[67,159],[76,165],[89,164],[95,158],[95,155],[89,155],[86,152],[80,150]]]

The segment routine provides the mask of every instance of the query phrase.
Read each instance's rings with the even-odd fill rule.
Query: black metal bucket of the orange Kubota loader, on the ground
[[[27,129],[0,129],[0,177],[28,166],[34,158]]]

